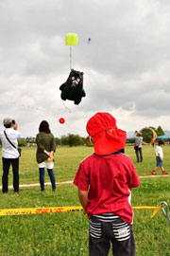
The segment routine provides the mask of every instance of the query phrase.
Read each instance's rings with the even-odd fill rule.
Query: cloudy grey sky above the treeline
[[[68,32],[78,36],[73,68],[84,72],[78,105],[60,99]],[[1,0],[0,109],[0,123],[16,119],[24,137],[35,137],[42,119],[56,137],[86,136],[96,112],[126,131],[170,130],[170,1]]]

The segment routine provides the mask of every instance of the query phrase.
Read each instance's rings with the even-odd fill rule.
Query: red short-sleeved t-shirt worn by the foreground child
[[[80,163],[74,184],[81,191],[89,191],[89,218],[110,212],[127,224],[132,222],[128,189],[138,187],[140,181],[127,155],[90,155]]]

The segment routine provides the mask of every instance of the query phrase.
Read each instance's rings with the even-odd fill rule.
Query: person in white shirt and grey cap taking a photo
[[[3,162],[3,176],[2,176],[2,192],[8,192],[8,172],[10,164],[13,172],[13,190],[17,194],[19,193],[19,152],[18,138],[22,137],[22,134],[18,132],[18,124],[15,120],[4,119],[3,124],[5,131],[0,132],[0,138],[2,141],[2,162]],[[10,144],[10,142],[15,148]]]

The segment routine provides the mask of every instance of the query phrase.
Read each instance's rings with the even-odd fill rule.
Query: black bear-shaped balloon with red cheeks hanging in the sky
[[[62,83],[59,87],[61,90],[60,98],[63,101],[75,101],[79,104],[82,97],[86,96],[83,89],[83,72],[71,69],[70,75],[66,82]]]

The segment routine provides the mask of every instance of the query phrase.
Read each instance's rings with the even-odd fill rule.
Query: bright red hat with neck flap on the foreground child
[[[93,137],[97,155],[109,155],[125,147],[127,133],[117,128],[116,119],[109,113],[96,113],[88,120],[86,130]]]

